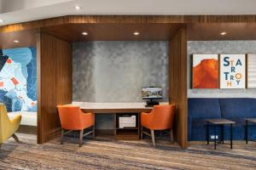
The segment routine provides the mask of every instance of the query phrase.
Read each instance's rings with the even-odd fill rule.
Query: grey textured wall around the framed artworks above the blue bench
[[[192,89],[192,54],[256,54],[256,41],[188,42],[188,98],[255,98],[256,89]]]

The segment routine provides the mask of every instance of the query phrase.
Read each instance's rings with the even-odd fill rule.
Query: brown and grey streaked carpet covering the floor
[[[36,136],[17,134],[21,143],[13,139],[2,145],[0,169],[256,169],[256,143],[235,142],[229,145],[193,143],[187,150],[166,140],[157,140],[152,148],[150,140],[115,141],[108,138],[66,138],[63,145],[55,139],[36,144]]]

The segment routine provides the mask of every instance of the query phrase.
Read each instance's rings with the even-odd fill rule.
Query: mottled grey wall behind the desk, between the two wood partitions
[[[168,101],[168,42],[73,43],[73,101],[145,102],[141,89],[160,86]],[[97,129],[112,129],[113,115],[96,116]]]

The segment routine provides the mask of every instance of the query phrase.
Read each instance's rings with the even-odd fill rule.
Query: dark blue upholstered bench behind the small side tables
[[[233,127],[233,139],[245,139],[245,118],[256,117],[256,99],[230,98],[206,99],[190,98],[188,111],[188,138],[189,141],[206,140],[205,119],[226,118],[236,122]],[[219,131],[220,129],[218,129]],[[224,129],[229,134],[230,129]],[[213,134],[210,129],[210,135]],[[256,127],[250,128],[248,135],[256,138]],[[230,135],[225,135],[229,139]]]

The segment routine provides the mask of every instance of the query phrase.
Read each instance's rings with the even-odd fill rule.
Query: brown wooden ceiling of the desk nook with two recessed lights
[[[182,24],[68,24],[42,31],[69,42],[78,41],[169,41]],[[82,32],[88,35],[83,36]],[[134,32],[139,32],[135,36]]]

